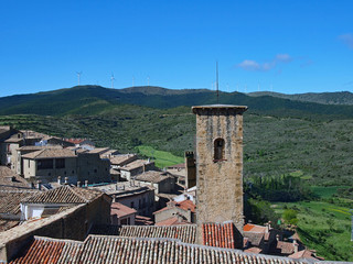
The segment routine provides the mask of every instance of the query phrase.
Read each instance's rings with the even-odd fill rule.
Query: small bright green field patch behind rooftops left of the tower
[[[156,166],[160,168],[184,162],[183,157],[175,156],[170,152],[157,151],[151,146],[141,145],[137,148],[141,155],[152,158],[156,162]]]

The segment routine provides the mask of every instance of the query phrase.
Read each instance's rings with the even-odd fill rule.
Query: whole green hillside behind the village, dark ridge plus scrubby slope
[[[137,146],[182,156],[194,148],[193,105],[215,103],[214,91],[160,87],[82,86],[0,98],[0,124],[58,136],[90,138],[98,146]],[[352,106],[221,92],[220,102],[246,105],[245,176],[298,174],[311,184],[353,184]],[[347,193],[346,196],[350,196]]]

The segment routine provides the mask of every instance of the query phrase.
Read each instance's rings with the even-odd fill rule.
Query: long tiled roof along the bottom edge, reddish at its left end
[[[170,239],[89,235],[84,242],[35,238],[10,264],[19,263],[308,263],[280,256],[248,254],[182,243]]]

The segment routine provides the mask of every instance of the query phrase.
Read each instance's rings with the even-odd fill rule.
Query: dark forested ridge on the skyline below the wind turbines
[[[100,86],[79,86],[0,98],[0,114],[87,116],[101,113],[121,105],[169,109],[212,103],[217,103],[215,92],[206,89],[171,90],[161,87],[108,89]],[[250,112],[278,117],[338,119],[353,117],[353,106],[320,105],[271,96],[252,97],[239,92],[221,92],[220,103],[246,105]]]

